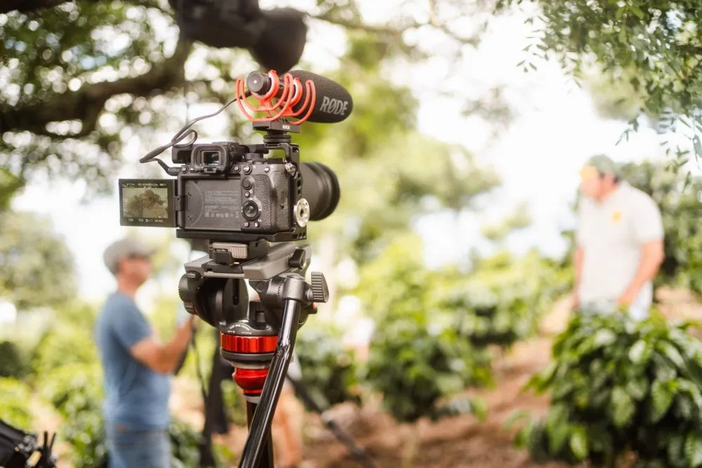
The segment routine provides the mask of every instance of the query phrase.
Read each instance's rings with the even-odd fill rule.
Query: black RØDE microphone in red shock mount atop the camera
[[[295,81],[292,88],[281,83],[274,72],[251,72],[246,77],[246,88],[261,102],[272,98],[292,100],[292,115],[307,113],[306,121],[336,123],[351,115],[353,100],[339,83],[303,70],[293,70],[286,75]]]

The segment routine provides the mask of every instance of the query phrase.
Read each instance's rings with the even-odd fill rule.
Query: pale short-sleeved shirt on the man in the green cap
[[[662,239],[656,202],[628,183],[621,182],[602,203],[583,198],[576,232],[584,257],[578,288],[581,304],[616,301],[636,275],[644,243]],[[634,306],[647,310],[652,300],[649,281]]]

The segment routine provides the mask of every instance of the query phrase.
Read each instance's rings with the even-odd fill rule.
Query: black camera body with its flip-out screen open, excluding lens
[[[272,150],[283,154],[266,157]],[[172,159],[175,180],[120,180],[122,225],[176,227],[178,237],[212,241],[306,238],[297,145],[192,144],[174,147]]]

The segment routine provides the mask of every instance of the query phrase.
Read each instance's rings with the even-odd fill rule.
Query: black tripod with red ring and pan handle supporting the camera
[[[324,275],[304,274],[311,248],[289,242],[209,243],[209,255],[185,264],[178,292],[188,312],[220,332],[220,354],[232,363],[246,398],[249,436],[239,468],[273,468],[273,413],[298,328],[329,300]],[[249,300],[246,288],[258,293]]]

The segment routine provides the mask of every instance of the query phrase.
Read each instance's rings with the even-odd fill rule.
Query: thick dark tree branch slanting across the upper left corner
[[[4,106],[0,108],[0,133],[6,131],[29,130],[48,134],[46,124],[55,121],[80,120],[83,128],[78,136],[84,136],[95,129],[105,102],[114,95],[131,94],[147,96],[183,83],[183,65],[190,53],[189,41],[178,40],[176,51],[161,63],[153,64],[145,74],[88,84],[78,91],[55,94],[48,100],[31,102],[26,105]],[[53,135],[62,137],[62,135]],[[77,135],[69,135],[74,138]]]

